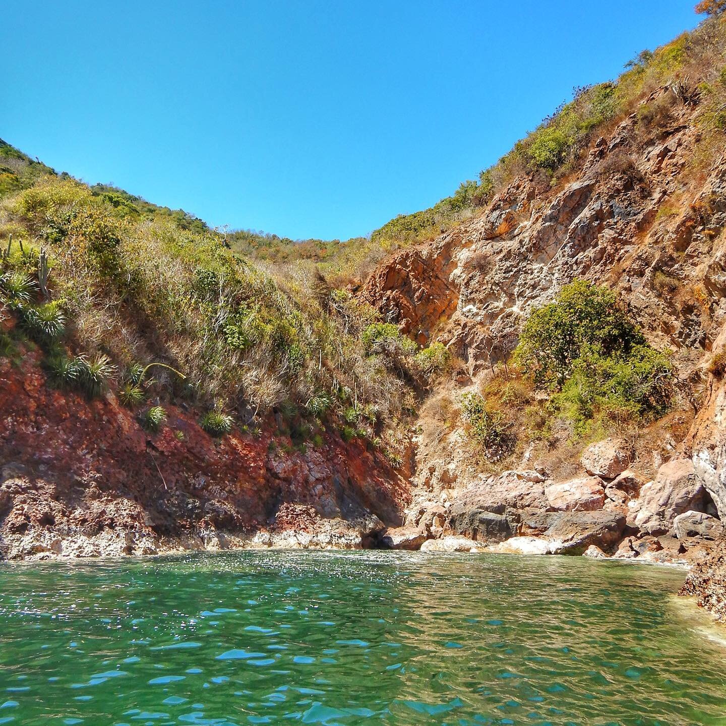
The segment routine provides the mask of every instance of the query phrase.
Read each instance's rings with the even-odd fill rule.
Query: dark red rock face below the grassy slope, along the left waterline
[[[32,553],[16,544],[33,533],[44,537],[37,546],[51,551],[53,537],[105,533],[116,542],[129,533],[172,540],[209,531],[250,533],[274,523],[285,502],[310,505],[319,518],[375,515],[400,522],[407,484],[363,441],[327,436],[319,449],[282,454],[271,446],[269,427],[260,436],[234,432],[216,440],[194,413],[171,405],[165,406],[168,425],[150,434],[113,394],[86,401],[51,388],[40,357],[27,353],[20,365],[0,360],[5,555]],[[282,437],[278,444],[290,441]],[[129,551],[138,551],[136,544]]]

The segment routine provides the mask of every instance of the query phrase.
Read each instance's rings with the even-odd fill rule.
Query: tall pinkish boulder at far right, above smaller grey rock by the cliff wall
[[[690,459],[674,459],[658,469],[656,481],[640,491],[635,525],[648,534],[664,534],[684,512],[703,510],[705,491]]]

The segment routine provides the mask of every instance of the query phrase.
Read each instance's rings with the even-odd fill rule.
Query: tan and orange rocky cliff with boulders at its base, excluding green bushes
[[[714,362],[726,348],[726,164],[703,161],[697,96],[663,86],[640,107],[653,104],[669,109],[658,129],[643,128],[636,107],[563,183],[518,177],[478,218],[394,255],[359,294],[402,330],[457,356],[454,378],[433,395],[451,407],[462,391],[507,386],[497,364],[529,313],[563,285],[584,278],[611,287],[649,342],[672,351],[674,412],[584,452],[587,441],[533,438],[508,462],[512,470],[497,473],[472,462],[461,424],[446,431],[446,415],[423,407],[409,529],[500,550],[582,553],[594,545],[590,554],[654,561],[700,562],[718,549],[726,391]]]

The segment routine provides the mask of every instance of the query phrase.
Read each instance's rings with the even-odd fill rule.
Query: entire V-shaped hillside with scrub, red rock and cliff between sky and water
[[[714,12],[346,242],[0,145],[4,555],[718,552],[725,109]]]

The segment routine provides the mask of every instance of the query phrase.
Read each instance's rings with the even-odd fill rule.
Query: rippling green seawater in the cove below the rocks
[[[681,571],[229,552],[0,565],[0,724],[726,724]]]

